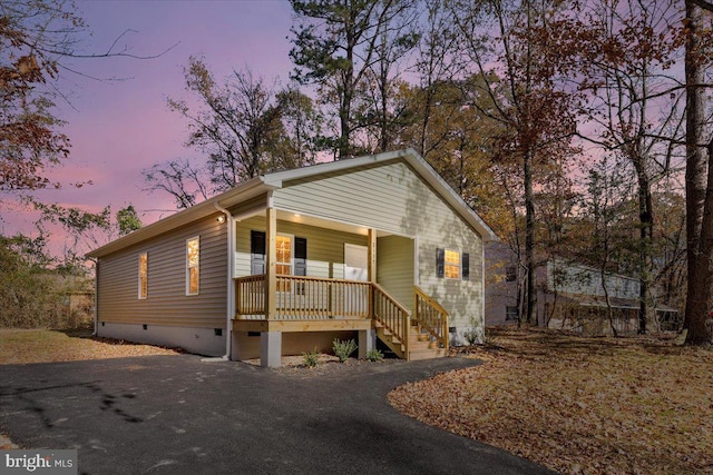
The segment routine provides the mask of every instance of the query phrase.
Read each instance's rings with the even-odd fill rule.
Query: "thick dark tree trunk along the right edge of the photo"
[[[687,328],[687,343],[700,344],[709,339],[705,319],[710,311],[711,286],[709,261],[710,254],[703,254],[702,229],[704,210],[711,198],[706,198],[706,188],[711,189],[709,158],[701,142],[704,135],[705,91],[697,85],[704,83],[704,71],[700,67],[699,49],[703,12],[692,0],[686,0],[686,241],[688,284],[686,287],[686,309],[684,328]],[[706,180],[706,177],[707,180]],[[709,221],[711,210],[707,209]],[[709,236],[710,238],[710,236]]]

